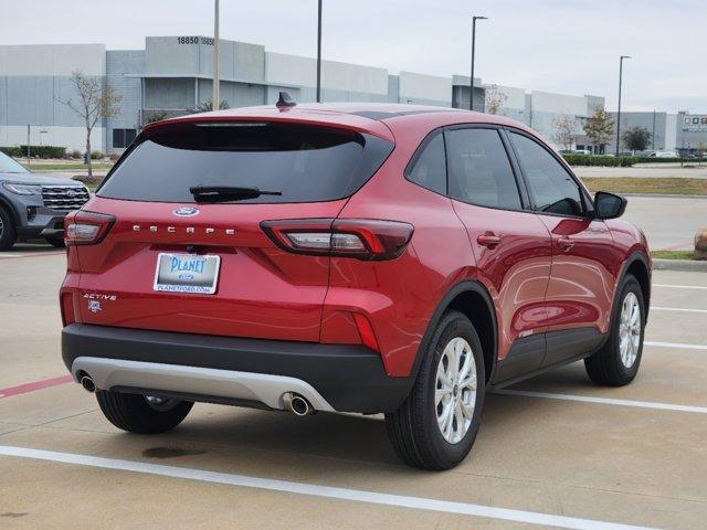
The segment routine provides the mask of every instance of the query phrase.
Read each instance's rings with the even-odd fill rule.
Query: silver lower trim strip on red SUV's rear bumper
[[[306,398],[317,411],[333,412],[331,405],[306,381],[286,375],[232,372],[212,368],[183,367],[156,362],[125,361],[96,357],[77,357],[71,369],[88,374],[99,390],[116,386],[162,390],[186,394],[257,401],[271,409],[286,409],[286,394]]]

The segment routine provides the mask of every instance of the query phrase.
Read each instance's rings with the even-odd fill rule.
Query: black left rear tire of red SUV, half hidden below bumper
[[[96,399],[103,414],[112,424],[137,434],[171,431],[187,417],[193,406],[191,401],[178,400],[163,400],[162,403],[150,404],[145,395],[105,390],[96,392]]]

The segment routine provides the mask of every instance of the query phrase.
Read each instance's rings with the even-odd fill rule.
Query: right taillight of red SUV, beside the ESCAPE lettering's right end
[[[261,227],[288,252],[365,261],[400,256],[413,232],[409,223],[371,219],[287,219],[263,221]]]

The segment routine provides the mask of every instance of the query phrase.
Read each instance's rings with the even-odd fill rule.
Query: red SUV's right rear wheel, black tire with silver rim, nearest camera
[[[437,404],[435,391],[443,386],[437,370],[446,372],[454,365],[450,363],[450,353],[454,344],[461,344],[462,351],[466,352],[457,358],[462,368],[466,365],[469,371],[475,370],[475,388],[472,389],[469,385],[460,391],[460,381],[453,377],[455,384],[447,386],[453,389],[452,392],[447,392]],[[471,351],[467,351],[466,347]],[[471,364],[464,364],[465,360]],[[400,459],[410,466],[431,470],[450,469],[460,464],[472,449],[478,433],[485,385],[484,352],[474,326],[458,311],[445,312],[432,336],[428,351],[424,352],[410,395],[398,411],[386,414],[388,437]],[[466,407],[466,414],[463,407],[456,409],[462,402],[467,405],[473,403],[473,409]],[[443,415],[445,405],[453,407],[454,417],[451,423],[443,422],[443,425],[446,425],[446,433],[443,434],[444,427],[440,425],[437,416]],[[457,411],[461,416],[456,415]],[[460,417],[463,423],[457,420]],[[450,431],[451,436],[447,437]]]

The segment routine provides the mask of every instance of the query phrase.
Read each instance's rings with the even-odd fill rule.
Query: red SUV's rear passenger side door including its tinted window
[[[525,206],[499,130],[453,127],[445,144],[452,204],[498,311],[496,381],[511,379],[539,368],[545,356],[550,236]]]

